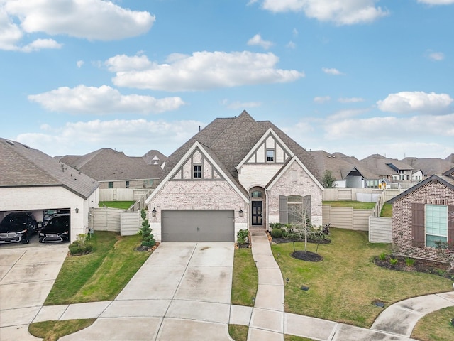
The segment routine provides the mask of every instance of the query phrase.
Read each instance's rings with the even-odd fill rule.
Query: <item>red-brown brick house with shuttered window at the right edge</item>
[[[441,261],[436,241],[454,241],[454,178],[432,175],[392,200],[397,254]]]

